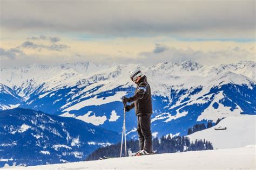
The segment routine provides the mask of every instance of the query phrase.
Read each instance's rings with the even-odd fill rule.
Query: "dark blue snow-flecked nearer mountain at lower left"
[[[15,108],[0,111],[0,167],[83,161],[120,134],[83,121]]]

